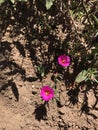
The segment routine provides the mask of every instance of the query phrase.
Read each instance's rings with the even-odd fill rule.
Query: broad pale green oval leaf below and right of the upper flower
[[[76,77],[75,82],[80,83],[87,79],[87,71],[82,70]]]

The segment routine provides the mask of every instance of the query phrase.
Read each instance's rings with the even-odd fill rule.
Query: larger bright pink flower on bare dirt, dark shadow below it
[[[54,90],[53,90],[53,88],[51,88],[49,86],[43,86],[41,88],[40,95],[43,100],[49,101],[51,98],[54,97]]]

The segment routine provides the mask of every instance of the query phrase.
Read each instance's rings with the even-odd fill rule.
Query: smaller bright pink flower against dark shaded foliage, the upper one
[[[70,57],[66,56],[66,55],[60,55],[58,57],[58,63],[63,67],[69,66],[70,65]]]

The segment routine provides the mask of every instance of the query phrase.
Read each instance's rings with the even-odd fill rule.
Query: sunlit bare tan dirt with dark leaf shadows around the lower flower
[[[7,40],[10,53],[4,49]],[[59,100],[44,105],[40,88],[53,85],[52,73],[40,80],[28,50],[23,57],[11,40],[6,36],[1,44],[7,55],[0,54],[0,130],[98,130],[97,91],[95,95],[93,89],[86,92],[85,87],[67,90],[61,81],[55,95]]]

